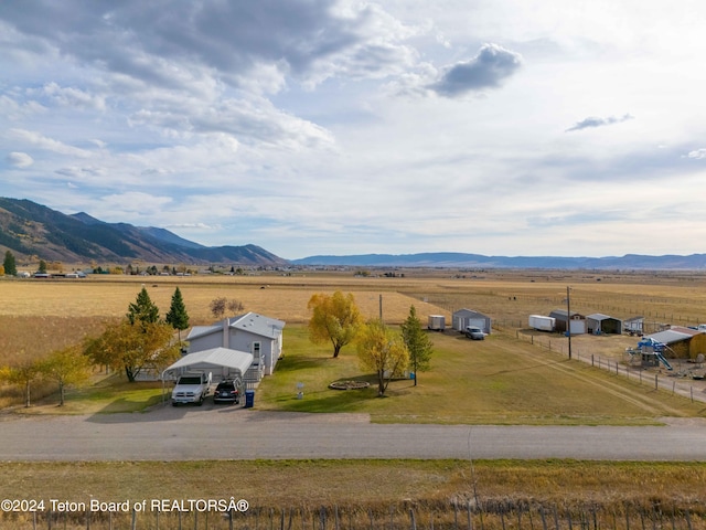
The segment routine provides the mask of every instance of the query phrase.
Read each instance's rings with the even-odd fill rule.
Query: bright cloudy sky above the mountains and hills
[[[4,0],[0,197],[288,258],[706,252],[706,2]]]

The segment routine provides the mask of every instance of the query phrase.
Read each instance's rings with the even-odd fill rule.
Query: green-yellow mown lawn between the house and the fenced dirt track
[[[285,358],[256,394],[261,410],[367,413],[377,423],[621,424],[660,423],[662,416],[698,416],[704,406],[569,361],[512,336],[471,341],[453,331],[432,333],[431,371],[391,383],[377,398],[374,378],[361,371],[355,349],[332,358],[313,346],[307,328],[285,330]],[[331,390],[341,379],[370,381],[366,390]],[[298,399],[298,383],[303,398]]]

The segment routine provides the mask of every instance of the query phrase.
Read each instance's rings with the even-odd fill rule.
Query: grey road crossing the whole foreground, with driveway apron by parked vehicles
[[[706,460],[706,422],[665,426],[378,425],[364,414],[239,406],[0,418],[2,460],[579,458]]]

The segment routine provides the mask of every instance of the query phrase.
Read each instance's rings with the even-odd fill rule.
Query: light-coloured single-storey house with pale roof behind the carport
[[[246,379],[259,381],[271,375],[282,354],[285,322],[276,318],[246,312],[226,317],[211,326],[194,326],[189,332],[189,353],[225,348],[253,354],[253,365]]]

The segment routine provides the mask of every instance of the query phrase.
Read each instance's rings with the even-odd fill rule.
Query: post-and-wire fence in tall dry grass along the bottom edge
[[[164,530],[704,530],[698,502],[543,505],[491,499],[429,505],[413,501],[387,508],[330,506],[252,508],[226,511],[0,513],[0,529],[164,529]],[[14,516],[14,517],[13,517]]]

